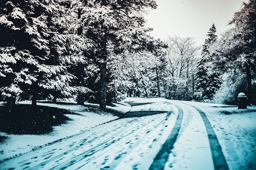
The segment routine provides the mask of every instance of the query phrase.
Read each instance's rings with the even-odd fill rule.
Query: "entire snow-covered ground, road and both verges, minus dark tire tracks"
[[[3,169],[154,169],[152,165],[159,162],[156,155],[163,150],[163,146],[171,146],[172,150],[167,152],[167,157],[159,158],[164,169],[211,170],[218,166],[218,162],[216,165],[211,154],[210,138],[209,134],[207,135],[209,129],[199,112],[192,107],[195,106],[202,110],[210,121],[229,169],[256,169],[256,107],[238,110],[237,106],[163,98],[127,98],[125,102],[133,105],[129,117],[103,125],[99,124],[117,117],[85,113],[81,106],[72,105],[74,107],[72,108],[51,105],[66,107],[84,116],[71,115],[75,121],[56,127],[52,135],[8,135],[12,140],[0,145],[0,151],[3,150],[1,158],[28,152],[34,147],[60,138],[78,135],[1,162],[0,167]],[[119,106],[122,106],[120,110],[123,112],[130,109],[124,105]],[[178,108],[183,112],[182,117]],[[137,117],[136,113],[140,116]],[[149,114],[142,116],[146,113]],[[181,121],[178,130],[176,120]],[[96,125],[99,126],[94,127]],[[175,130],[178,136],[172,136]],[[174,141],[173,146],[166,144],[168,140]]]

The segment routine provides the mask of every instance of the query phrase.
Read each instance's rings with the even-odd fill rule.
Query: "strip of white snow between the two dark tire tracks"
[[[199,170],[207,167],[207,170],[214,170],[209,140],[200,114],[195,109],[184,109],[182,124],[182,135],[178,136],[165,169],[193,167]]]

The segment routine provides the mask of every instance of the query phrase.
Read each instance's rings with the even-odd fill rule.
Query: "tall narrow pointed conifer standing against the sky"
[[[204,42],[201,53],[202,58],[198,63],[198,72],[195,75],[195,97],[197,100],[201,101],[205,99],[212,100],[214,94],[221,85],[221,79],[219,74],[216,72],[210,72],[210,63],[213,61],[214,56],[213,54],[210,54],[209,48],[218,39],[215,33],[216,27],[213,23],[207,34],[208,38]]]

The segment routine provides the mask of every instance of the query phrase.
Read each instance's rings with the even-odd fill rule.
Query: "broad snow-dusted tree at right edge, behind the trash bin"
[[[256,97],[252,86],[256,70],[256,0],[243,3],[229,24],[233,27],[212,47],[212,53],[216,55],[214,69],[223,74],[232,73],[230,76],[234,78],[237,75],[240,79],[246,77],[247,88],[243,91],[247,91],[249,104],[252,104]]]

